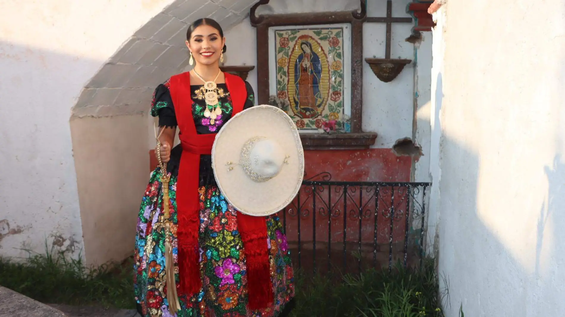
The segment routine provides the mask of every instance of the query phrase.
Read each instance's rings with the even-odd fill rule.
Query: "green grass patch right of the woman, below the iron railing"
[[[366,270],[338,279],[297,274],[291,317],[443,317],[433,259],[423,268]],[[332,281],[333,280],[333,281]]]

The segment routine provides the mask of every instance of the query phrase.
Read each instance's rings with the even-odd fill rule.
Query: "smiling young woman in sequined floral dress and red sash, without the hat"
[[[237,112],[253,107],[253,89],[240,77],[220,71],[218,61],[226,46],[216,21],[194,21],[186,46],[194,69],[159,85],[151,105],[151,115],[159,117],[162,130],[162,146],[155,152],[167,163],[167,171],[157,168],[151,174],[138,217],[138,310],[144,317],[175,316],[166,295],[160,183],[166,172],[171,175],[170,219],[180,303],[176,315],[280,316],[294,296],[294,285],[279,218],[238,213],[219,191],[211,168],[215,134]],[[181,144],[171,148],[177,127]]]

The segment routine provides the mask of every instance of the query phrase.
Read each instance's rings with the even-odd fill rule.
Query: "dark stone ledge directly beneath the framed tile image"
[[[376,133],[301,133],[304,149],[367,149],[375,144]]]

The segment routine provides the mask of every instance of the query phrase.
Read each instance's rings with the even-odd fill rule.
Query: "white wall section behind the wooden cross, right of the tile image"
[[[406,6],[410,1],[393,1],[393,17],[410,17]],[[386,16],[386,1],[371,1],[367,16]],[[390,58],[411,59],[396,79],[382,82],[363,61],[363,130],[379,134],[375,146],[390,148],[398,139],[412,138],[414,114],[415,50],[405,39],[414,24],[393,23]],[[364,58],[385,58],[386,24],[366,23],[363,28]]]

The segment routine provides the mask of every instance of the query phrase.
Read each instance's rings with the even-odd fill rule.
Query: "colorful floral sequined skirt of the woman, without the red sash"
[[[134,290],[144,317],[175,316],[168,311],[165,279],[165,239],[162,224],[163,195],[156,169],[142,200],[137,221],[134,254]],[[173,226],[173,257],[176,257],[176,177],[171,177],[169,196]],[[236,210],[215,186],[199,189],[200,201],[200,267],[202,290],[194,296],[180,296],[178,317],[275,317],[294,296],[293,269],[286,237],[279,217],[267,217],[271,280],[275,301],[261,311],[247,308],[245,256],[237,231]],[[203,207],[202,207],[203,206]],[[176,269],[178,271],[178,269]],[[179,276],[176,275],[178,281]]]

